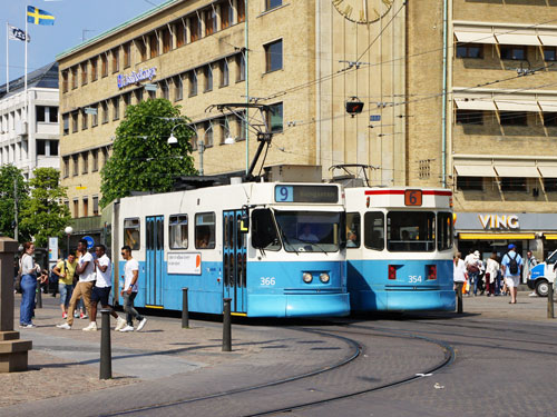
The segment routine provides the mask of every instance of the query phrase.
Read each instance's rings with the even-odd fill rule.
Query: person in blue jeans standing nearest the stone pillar
[[[23,244],[23,254],[20,259],[21,305],[19,307],[19,327],[21,328],[37,327],[32,322],[37,280],[39,279],[42,284],[48,279],[48,275],[41,274],[40,266],[35,264],[33,254],[35,245],[30,241]]]

